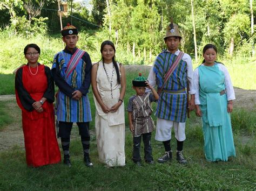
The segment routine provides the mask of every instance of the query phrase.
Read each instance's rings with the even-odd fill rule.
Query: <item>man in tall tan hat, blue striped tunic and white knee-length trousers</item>
[[[177,67],[174,69],[169,80],[164,83],[165,75],[173,65],[180,51],[181,36],[178,25],[171,23],[167,27],[164,37],[167,50],[157,55],[156,60],[150,70],[148,77],[151,86],[161,88],[159,100],[157,103],[157,128],[156,140],[163,142],[165,154],[158,159],[158,162],[164,163],[172,159],[172,150],[170,146],[171,130],[174,128],[175,137],[177,139],[177,160],[180,164],[186,164],[187,161],[183,156],[183,142],[185,136],[187,95],[186,87],[192,84],[193,68],[190,55],[184,53]],[[190,94],[194,94],[192,91]],[[194,95],[192,95],[194,96]],[[193,100],[192,100],[193,101]],[[190,103],[191,109],[194,103]]]

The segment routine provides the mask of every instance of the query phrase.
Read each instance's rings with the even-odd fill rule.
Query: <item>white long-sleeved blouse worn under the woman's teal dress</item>
[[[204,64],[202,63],[201,66],[204,66]],[[225,90],[226,90],[226,94],[227,94],[227,100],[228,101],[235,100],[234,88],[233,88],[233,85],[231,82],[230,74],[227,71],[227,68],[222,64],[218,64],[217,66],[224,73],[224,76],[225,76],[225,88],[226,88]],[[195,96],[195,104],[200,105],[198,68],[196,68],[194,70],[192,89],[193,89],[194,96]]]

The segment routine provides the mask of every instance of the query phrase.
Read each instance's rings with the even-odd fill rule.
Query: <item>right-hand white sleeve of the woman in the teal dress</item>
[[[225,76],[225,88],[226,88],[226,94],[227,94],[227,101],[235,100],[234,88],[231,82],[230,74],[228,73],[228,70],[224,65],[220,63],[218,64],[218,66],[219,66],[219,69],[223,71]]]

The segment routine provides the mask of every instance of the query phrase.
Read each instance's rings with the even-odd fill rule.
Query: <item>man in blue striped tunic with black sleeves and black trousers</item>
[[[76,47],[78,30],[69,25],[62,30],[62,40],[66,44],[63,51],[55,55],[52,76],[59,90],[56,94],[56,115],[59,124],[58,137],[61,138],[64,164],[71,166],[69,145],[73,122],[79,128],[86,166],[92,166],[89,157],[92,120],[90,102],[87,96],[91,84],[90,55]]]

